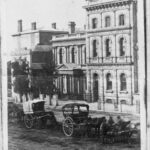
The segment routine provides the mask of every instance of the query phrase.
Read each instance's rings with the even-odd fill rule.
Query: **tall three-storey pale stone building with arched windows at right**
[[[116,0],[84,7],[87,100],[98,102],[100,110],[122,111],[138,103],[134,99],[138,93],[136,5],[136,1]]]

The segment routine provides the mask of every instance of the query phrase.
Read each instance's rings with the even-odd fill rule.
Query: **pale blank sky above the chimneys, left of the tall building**
[[[5,0],[6,36],[9,48],[13,46],[11,35],[17,31],[17,21],[23,20],[23,30],[31,28],[31,22],[38,27],[50,28],[56,22],[58,29],[67,29],[69,21],[83,28],[86,12],[82,8],[85,0]],[[11,45],[11,46],[10,46]]]

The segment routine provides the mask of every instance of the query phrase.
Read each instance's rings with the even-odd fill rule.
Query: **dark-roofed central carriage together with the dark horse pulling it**
[[[89,117],[89,105],[81,103],[69,103],[62,107],[64,121],[63,132],[66,136],[73,136],[77,131],[89,136],[91,129],[99,133],[100,125],[105,119]]]

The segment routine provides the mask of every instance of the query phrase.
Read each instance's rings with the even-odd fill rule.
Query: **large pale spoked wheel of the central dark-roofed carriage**
[[[70,117],[67,117],[63,121],[63,132],[66,136],[72,136],[74,133],[74,125],[73,120]]]

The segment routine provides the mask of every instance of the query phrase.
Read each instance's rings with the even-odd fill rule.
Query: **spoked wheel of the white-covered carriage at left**
[[[24,116],[24,124],[26,128],[30,129],[33,127],[34,117],[31,114],[27,114]]]

